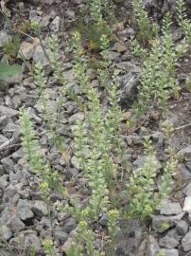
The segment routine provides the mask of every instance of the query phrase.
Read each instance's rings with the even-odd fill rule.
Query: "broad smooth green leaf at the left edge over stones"
[[[18,64],[0,64],[0,80],[6,80],[23,73],[23,68]]]

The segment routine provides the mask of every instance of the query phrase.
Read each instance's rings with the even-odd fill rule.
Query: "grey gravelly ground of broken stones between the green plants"
[[[1,1],[3,3],[4,1]],[[21,21],[40,22],[44,42],[51,33],[61,36],[61,58],[63,60],[64,76],[70,81],[69,86],[80,95],[78,83],[75,81],[75,71],[69,47],[71,32],[75,29],[78,20],[78,9],[83,6],[82,0],[28,0],[5,1],[10,12],[10,20],[16,26]],[[85,2],[85,1],[84,1]],[[118,1],[115,1],[118,2]],[[131,103],[136,99],[136,86],[141,72],[140,61],[130,53],[129,39],[134,33],[130,26],[130,1],[119,1],[115,9],[120,23],[118,37],[121,42],[113,42],[110,49],[110,59],[115,72],[119,75],[121,86],[121,105],[128,112]],[[152,19],[161,19],[166,10],[175,11],[175,0],[156,1],[144,0]],[[191,2],[187,1],[188,13],[191,14]],[[17,14],[17,15],[16,15]],[[0,18],[0,47],[11,37],[9,23]],[[174,37],[179,43],[182,38],[180,30],[174,28]],[[22,51],[26,57],[26,70],[33,64],[41,62],[49,74],[47,88],[52,113],[56,112],[59,85],[54,82],[49,73],[50,66],[44,56],[42,47],[33,38],[25,37],[22,42]],[[4,59],[1,51],[1,58]],[[20,60],[17,60],[21,63]],[[175,187],[172,197],[165,200],[164,206],[154,215],[149,231],[143,228],[138,221],[120,221],[121,228],[117,239],[116,255],[118,256],[157,256],[160,250],[166,256],[191,256],[191,94],[185,88],[185,79],[190,75],[190,56],[183,58],[179,65],[179,79],[182,85],[179,100],[171,99],[168,102],[170,119],[175,127],[174,144],[177,152],[185,155],[182,167],[177,171]],[[93,76],[92,86],[98,82]],[[14,255],[20,255],[25,247],[36,248],[38,255],[45,255],[42,242],[51,235],[51,224],[48,210],[43,203],[40,192],[37,190],[39,181],[26,165],[24,153],[21,149],[18,110],[25,105],[31,117],[42,149],[51,166],[62,174],[63,184],[71,188],[72,193],[78,192],[83,198],[89,195],[86,181],[80,177],[78,159],[72,152],[72,131],[78,119],[83,119],[83,113],[78,109],[77,103],[66,101],[61,111],[61,135],[67,137],[65,143],[70,149],[69,164],[63,159],[57,149],[45,137],[41,117],[41,104],[35,90],[31,74],[26,71],[24,75],[16,76],[0,85],[0,234],[6,240],[0,244],[0,256],[11,255],[7,249],[14,249]],[[131,169],[134,170],[144,163],[143,136],[155,134],[160,122],[160,115],[149,119],[136,132],[126,135],[128,145],[127,159],[130,160]],[[164,137],[157,134],[153,137],[156,148],[161,154],[159,159],[165,160]],[[182,182],[180,183],[180,178]],[[52,200],[60,200],[61,195],[52,194]],[[58,249],[63,251],[73,240],[76,220],[68,214],[52,210],[54,216],[54,238]],[[162,229],[162,224],[166,224]],[[100,216],[99,229],[107,226],[107,215]],[[9,245],[9,246],[8,246]],[[58,255],[61,253],[58,252]]]

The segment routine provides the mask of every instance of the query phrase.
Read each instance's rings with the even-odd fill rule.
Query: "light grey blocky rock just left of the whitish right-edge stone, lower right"
[[[177,215],[182,212],[182,207],[180,203],[172,203],[168,200],[164,200],[162,207],[160,208],[160,213],[162,215]]]

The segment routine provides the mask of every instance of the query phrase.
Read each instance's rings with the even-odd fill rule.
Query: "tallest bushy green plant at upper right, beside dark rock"
[[[143,64],[139,96],[136,108],[137,117],[145,114],[152,103],[163,108],[166,112],[166,101],[173,93],[179,96],[179,83],[176,76],[176,64],[187,50],[187,45],[182,44],[176,48],[170,32],[171,15],[166,14],[163,21],[162,42],[155,39],[151,43],[151,51]]]

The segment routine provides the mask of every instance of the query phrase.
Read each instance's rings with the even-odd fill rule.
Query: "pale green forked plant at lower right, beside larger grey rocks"
[[[165,164],[162,183],[156,192],[156,177],[158,174],[158,162],[151,141],[145,143],[146,162],[142,168],[130,176],[128,196],[130,198],[130,216],[140,220],[148,219],[154,210],[157,210],[163,198],[165,198],[172,183],[172,174],[176,165],[174,159],[169,155]]]

